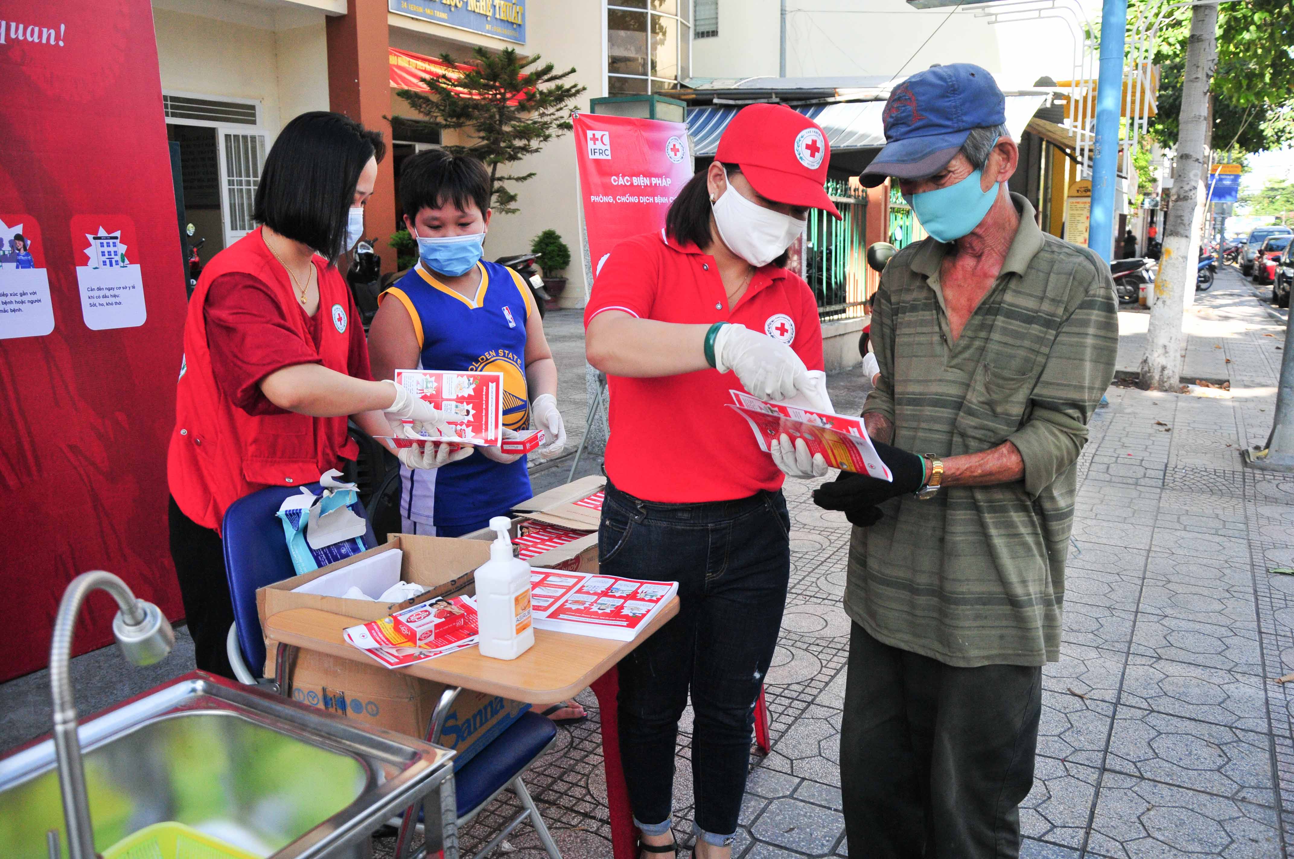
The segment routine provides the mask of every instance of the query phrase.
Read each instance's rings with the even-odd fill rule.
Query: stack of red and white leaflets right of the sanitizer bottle
[[[531,571],[536,629],[631,642],[678,593],[678,582]]]

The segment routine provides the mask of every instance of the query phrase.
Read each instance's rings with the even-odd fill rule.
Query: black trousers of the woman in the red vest
[[[171,560],[180,580],[184,618],[193,636],[193,656],[198,668],[233,678],[225,639],[234,622],[225,577],[225,547],[220,534],[185,516],[171,498],[167,505],[171,524]],[[255,670],[259,666],[250,666]]]

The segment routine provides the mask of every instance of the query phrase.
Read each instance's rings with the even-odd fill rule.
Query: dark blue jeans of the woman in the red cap
[[[780,492],[660,505],[607,484],[602,572],[679,583],[678,617],[620,662],[620,749],[639,823],[670,818],[678,719],[691,690],[696,825],[736,832],[754,701],[787,599],[789,527]]]

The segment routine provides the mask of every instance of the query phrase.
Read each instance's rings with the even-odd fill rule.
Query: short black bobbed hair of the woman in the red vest
[[[360,173],[386,151],[382,132],[349,116],[302,114],[283,125],[265,157],[252,219],[335,260],[347,250],[347,217]]]

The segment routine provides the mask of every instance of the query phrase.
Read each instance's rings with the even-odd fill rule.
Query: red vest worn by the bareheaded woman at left
[[[342,274],[314,257],[318,272],[320,313],[349,304]],[[256,229],[216,254],[202,270],[189,299],[184,325],[184,364],[176,387],[176,422],[167,455],[167,483],[171,495],[185,516],[203,528],[219,532],[225,510],[243,495],[264,486],[299,486],[335,468],[333,451],[355,459],[358,448],[347,437],[347,418],[312,418],[285,413],[250,415],[233,405],[216,386],[207,351],[207,321],[203,304],[212,281],[221,274],[242,272],[268,283],[285,310],[285,318],[303,340],[313,345],[305,314],[298,309],[296,295],[287,272],[265,247]],[[351,314],[343,313],[342,317]],[[338,318],[342,318],[338,317]],[[325,323],[318,345],[324,366],[347,373],[351,338],[345,318]],[[325,462],[327,459],[327,462]]]

